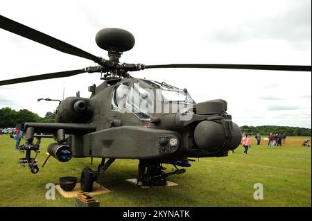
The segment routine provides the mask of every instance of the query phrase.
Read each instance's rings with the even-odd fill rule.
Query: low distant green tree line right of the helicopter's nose
[[[288,127],[288,126],[243,126],[241,127],[242,132],[246,132],[248,134],[256,135],[260,133],[261,135],[268,135],[270,133],[273,134],[283,134],[286,136],[311,136],[311,129],[304,127]]]

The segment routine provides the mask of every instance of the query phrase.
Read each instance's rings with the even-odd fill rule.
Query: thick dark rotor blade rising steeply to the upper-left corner
[[[67,44],[66,42],[62,42],[55,37],[51,37],[49,35],[41,33],[40,31],[33,28],[29,28],[28,26],[24,26],[24,24],[20,24],[17,21],[13,21],[11,19],[8,19],[7,17],[3,17],[2,15],[0,15],[0,28],[8,30],[11,33],[15,33],[22,37],[26,37],[40,44],[44,44],[45,46],[49,46],[58,51],[93,60],[96,63],[100,62],[100,59],[98,57],[87,53],[80,48],[76,48],[75,46]]]

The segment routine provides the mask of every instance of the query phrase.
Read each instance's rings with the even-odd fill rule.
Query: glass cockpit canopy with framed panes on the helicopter
[[[113,111],[135,113],[144,120],[150,119],[155,113],[177,113],[193,105],[187,89],[153,80],[123,82],[116,86],[112,96]]]

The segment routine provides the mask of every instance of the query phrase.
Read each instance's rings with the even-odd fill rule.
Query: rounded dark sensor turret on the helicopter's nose
[[[200,122],[194,132],[195,143],[201,150],[218,150],[225,143],[225,129],[222,124],[214,121]],[[234,150],[241,142],[241,130],[232,122],[232,137],[227,144],[227,150]]]

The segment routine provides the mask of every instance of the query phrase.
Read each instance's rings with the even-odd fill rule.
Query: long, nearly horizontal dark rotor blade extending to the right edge
[[[311,66],[266,64],[156,64],[144,65],[143,69],[198,68],[198,69],[254,69],[270,71],[311,71]]]

